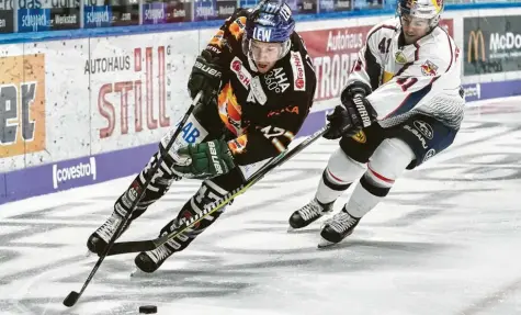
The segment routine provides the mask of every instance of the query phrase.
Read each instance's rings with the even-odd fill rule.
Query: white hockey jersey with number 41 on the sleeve
[[[460,128],[464,114],[461,56],[454,40],[441,26],[415,44],[405,45],[399,19],[374,26],[359,52],[347,87],[361,81],[383,127],[422,113]]]

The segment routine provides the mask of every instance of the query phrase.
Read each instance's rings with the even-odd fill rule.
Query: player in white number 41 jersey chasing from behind
[[[439,25],[443,0],[399,0],[397,18],[377,24],[359,53],[326,138],[340,138],[315,198],[290,217],[302,228],[332,211],[354,181],[349,202],[326,221],[319,247],[341,241],[412,169],[454,140],[464,114],[460,49]]]

